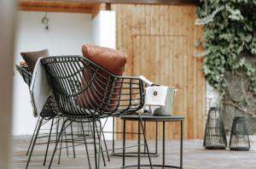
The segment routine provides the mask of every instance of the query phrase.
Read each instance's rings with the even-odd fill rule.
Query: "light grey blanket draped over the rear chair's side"
[[[31,102],[34,108],[34,116],[40,115],[52,90],[44,66],[41,64],[41,59],[43,59],[43,57],[39,58],[35,65],[31,86],[29,88],[32,99]]]

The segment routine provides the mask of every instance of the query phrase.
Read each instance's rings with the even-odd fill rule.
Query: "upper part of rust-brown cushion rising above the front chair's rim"
[[[82,53],[84,57],[101,65],[114,75],[122,75],[124,72],[127,59],[125,54],[119,50],[85,44],[82,47]]]

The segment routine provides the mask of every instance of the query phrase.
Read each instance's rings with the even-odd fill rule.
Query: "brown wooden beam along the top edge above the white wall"
[[[111,10],[111,3],[132,4],[196,4],[199,0],[19,0],[19,9],[26,11],[98,14]],[[103,8],[105,7],[105,8]]]

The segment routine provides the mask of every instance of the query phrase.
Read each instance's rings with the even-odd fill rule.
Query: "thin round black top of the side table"
[[[184,116],[179,115],[140,115],[143,121],[183,121]],[[120,115],[122,120],[137,121],[138,115]]]

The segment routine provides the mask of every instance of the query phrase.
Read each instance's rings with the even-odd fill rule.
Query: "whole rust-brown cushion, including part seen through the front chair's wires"
[[[97,65],[101,65],[102,68],[108,70],[114,75],[121,76],[125,70],[126,56],[123,52],[112,49],[104,48],[95,45],[86,44],[82,47],[82,52],[84,57],[95,62]],[[87,68],[84,70],[84,77],[82,79],[82,88],[86,87],[86,84],[90,83],[90,78],[92,78],[94,73],[94,67]],[[106,72],[100,71],[100,75],[94,76],[95,83],[91,83],[90,87],[79,96],[80,104],[87,109],[96,109],[102,104],[102,98],[104,97],[104,90],[107,87],[108,75]],[[116,86],[117,87],[117,86]],[[103,90],[104,89],[104,90]],[[110,88],[107,89],[108,91]],[[115,94],[112,95],[111,99],[117,99],[119,95],[119,90],[114,89]],[[107,96],[108,97],[108,96]],[[110,104],[117,104],[116,101],[111,101]],[[108,106],[108,110],[115,109],[116,106]]]

